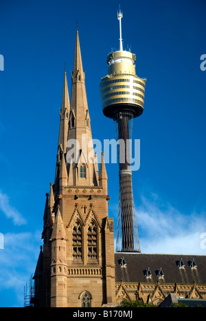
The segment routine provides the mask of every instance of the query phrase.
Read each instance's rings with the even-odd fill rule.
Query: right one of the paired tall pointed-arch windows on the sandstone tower
[[[87,233],[88,259],[98,261],[98,228],[94,221],[89,224]]]

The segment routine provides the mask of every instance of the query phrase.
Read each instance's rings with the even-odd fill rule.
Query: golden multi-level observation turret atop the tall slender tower
[[[100,82],[104,115],[114,118],[117,110],[130,110],[133,117],[144,110],[146,79],[135,71],[136,56],[130,51],[115,51],[107,57],[108,75]]]

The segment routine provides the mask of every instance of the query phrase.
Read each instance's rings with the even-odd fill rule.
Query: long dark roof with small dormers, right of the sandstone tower
[[[124,257],[126,265],[119,263]],[[184,269],[179,269],[178,263],[182,259]],[[190,267],[190,263],[196,263],[196,269]],[[150,268],[152,278],[146,278],[146,270]],[[158,278],[161,269],[163,278]],[[123,278],[128,283],[179,283],[179,284],[206,284],[206,255],[185,254],[143,254],[143,253],[115,253],[116,282]]]

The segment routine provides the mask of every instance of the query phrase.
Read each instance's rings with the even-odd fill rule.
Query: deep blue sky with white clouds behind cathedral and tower
[[[133,191],[142,252],[206,254],[206,3],[120,1],[124,49],[147,78],[144,113],[133,123],[141,167]],[[34,273],[45,193],[54,181],[66,62],[69,93],[80,35],[93,139],[115,138],[99,84],[118,49],[119,1],[0,2],[0,306],[22,307]],[[107,164],[109,216],[117,222],[118,167]]]

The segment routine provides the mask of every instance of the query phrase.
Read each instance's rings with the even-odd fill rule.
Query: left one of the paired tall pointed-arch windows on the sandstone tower
[[[77,221],[72,231],[73,259],[82,261],[82,224]]]

